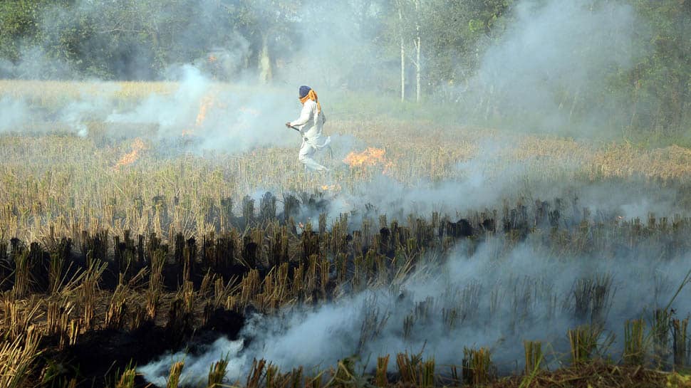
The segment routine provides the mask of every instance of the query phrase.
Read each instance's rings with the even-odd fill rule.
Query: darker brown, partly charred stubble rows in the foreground
[[[540,208],[536,207],[531,211],[539,214]],[[512,213],[512,211],[507,211],[504,216]],[[497,216],[494,212],[488,214]],[[534,214],[526,215],[526,217],[538,220]],[[202,241],[207,241],[207,243],[202,242],[201,246],[192,240],[186,241],[185,238],[176,238],[175,246],[157,246],[158,239],[150,236],[150,238],[145,238],[142,244],[135,244],[133,248],[135,250],[132,253],[133,257],[141,253],[142,263],[148,263],[142,264],[144,268],[141,270],[116,266],[113,256],[115,252],[108,251],[107,256],[103,258],[92,257],[89,267],[80,269],[83,272],[74,277],[76,280],[73,284],[61,288],[56,295],[50,295],[50,298],[45,300],[36,298],[35,292],[31,293],[32,298],[16,298],[17,293],[13,291],[14,287],[6,291],[4,308],[0,315],[3,327],[6,328],[3,335],[9,340],[21,338],[26,335],[30,327],[33,327],[32,325],[37,325],[37,327],[42,327],[41,333],[47,336],[58,335],[58,347],[69,347],[78,343],[80,335],[88,330],[105,327],[133,330],[140,327],[144,320],[152,320],[157,325],[169,325],[176,332],[185,332],[193,326],[203,325],[204,319],[208,316],[207,306],[209,305],[221,305],[229,310],[239,311],[251,307],[264,313],[271,313],[281,307],[296,303],[323,303],[325,300],[337,298],[341,293],[339,290],[349,288],[350,285],[359,284],[363,288],[395,285],[410,276],[410,268],[416,268],[417,276],[424,276],[425,271],[432,271],[432,268],[440,264],[435,256],[423,253],[438,251],[443,256],[445,250],[452,246],[449,241],[454,241],[453,229],[448,229],[449,226],[444,227],[447,222],[447,219],[439,218],[439,216],[432,217],[432,221],[411,217],[407,222],[400,224],[398,221],[388,222],[385,217],[381,217],[381,230],[377,231],[369,224],[369,221],[364,221],[360,230],[353,233],[353,243],[345,246],[338,241],[345,241],[348,232],[340,226],[331,230],[324,229],[319,233],[297,234],[286,226],[281,226],[277,221],[256,224],[242,234],[237,230],[224,233],[221,237],[209,234],[209,236],[203,236]],[[478,226],[481,222],[482,218],[472,219],[473,226]],[[538,224],[531,227],[536,225]],[[596,249],[604,256],[608,256],[610,254],[608,250],[617,246],[618,243],[635,247],[639,243],[649,241],[651,236],[661,240],[675,241],[672,236],[684,234],[684,231],[690,227],[691,221],[683,218],[675,218],[669,225],[653,219],[648,220],[646,224],[641,224],[639,221],[619,221],[608,228],[596,227],[596,224],[586,221],[581,222],[576,229],[553,229],[543,232],[536,229],[532,233],[536,236],[536,241],[550,243],[551,251],[558,255],[577,255],[584,249]],[[588,246],[581,241],[587,229],[590,229],[588,235],[591,236]],[[306,230],[309,228],[307,227]],[[442,234],[438,235],[440,230]],[[494,235],[492,231],[480,233]],[[78,236],[84,243],[76,245],[83,246],[84,248],[80,249],[88,252],[84,254],[84,251],[78,251],[78,255],[88,258],[91,256],[90,252],[98,251],[93,244],[101,234],[90,236],[86,232]],[[516,243],[513,240],[514,233],[511,231],[500,236],[505,239],[502,244],[507,244],[506,246],[510,247]],[[114,241],[128,241],[128,238],[128,236],[111,237]],[[217,278],[211,271],[219,262],[216,250],[232,246],[234,248],[230,251],[225,251],[225,254],[229,255],[227,261],[249,262],[249,256],[244,256],[246,254],[244,244],[248,241],[259,242],[259,248],[256,249],[258,254],[251,260],[256,265],[264,266],[268,271],[260,273],[259,268],[245,267],[247,272],[240,274],[239,277],[229,278],[227,281]],[[276,249],[276,241],[282,241],[281,244],[285,244],[286,252],[283,252],[284,248],[281,248],[281,244]],[[92,248],[88,248],[90,246]],[[363,246],[370,248],[364,250],[363,253]],[[192,266],[184,265],[192,257],[189,247],[194,247],[195,252]],[[687,251],[687,248],[688,241],[675,241],[667,253],[671,255],[670,257],[674,257]],[[55,249],[60,248],[56,246]],[[390,251],[395,252],[393,257],[387,256]],[[180,261],[175,259],[178,253]],[[30,248],[25,248],[21,255],[35,256],[31,254]],[[53,254],[50,257],[56,258],[58,255]],[[187,260],[185,260],[186,257]],[[329,257],[334,258],[333,262],[328,261]],[[348,258],[348,262],[354,267],[343,266],[338,262],[338,258]],[[61,266],[66,268],[67,264],[67,262],[62,263]],[[289,271],[289,264],[293,266],[292,273]],[[117,283],[113,288],[100,289],[100,279],[107,266],[110,266],[109,271],[116,273],[120,271]],[[171,274],[171,266],[177,266],[175,269],[177,272]],[[247,264],[242,266],[247,266]],[[192,269],[188,271],[187,268]],[[125,278],[125,273],[128,271],[135,274]],[[168,271],[167,276],[172,275],[182,280],[177,283],[177,288],[168,288],[163,285],[162,273],[166,271]],[[185,276],[199,280],[199,285],[193,285],[191,281],[185,280]],[[48,280],[45,281],[44,289],[48,292]],[[590,284],[588,282],[599,282],[597,284],[601,286],[598,286],[598,289],[608,288],[611,285],[606,277],[592,280],[581,279],[575,284],[584,288],[584,284]],[[41,284],[33,280],[28,285],[30,285],[28,289],[31,290],[41,288]],[[581,288],[576,287],[576,290],[581,290]],[[457,298],[463,300],[464,303],[459,304],[454,310],[456,317],[472,313],[472,308],[464,311],[464,306],[473,304],[474,298],[477,298],[473,295],[472,288],[458,293]],[[596,302],[603,299],[598,296],[598,293],[584,292],[583,295],[591,295],[593,300],[578,303],[592,306],[593,309],[600,305]],[[576,301],[573,303],[578,304]],[[432,310],[434,305],[435,301],[432,299],[415,305],[410,315],[410,328],[407,330],[409,336],[414,332],[415,322],[418,320],[430,320],[437,316],[451,319],[448,318],[450,312]],[[591,312],[588,308],[573,310],[578,315],[598,316],[594,310]],[[157,311],[170,313],[167,317],[163,317]],[[368,341],[368,338],[376,337],[379,327],[387,319],[371,308],[368,313],[371,319],[363,321],[361,335],[364,342]],[[661,328],[665,325],[665,319],[664,317],[659,319]],[[452,325],[452,323],[447,324]],[[685,365],[688,357],[687,348],[684,347],[687,341],[686,325],[684,321],[678,321],[675,322],[674,328],[675,338],[678,338],[675,340],[677,344],[674,352],[675,362]],[[669,349],[660,347],[665,343],[667,334],[668,332],[665,331],[658,335],[660,355],[671,354]],[[596,331],[581,327],[570,332],[569,339],[573,347],[573,361],[578,364],[587,364],[588,359],[593,355],[593,344],[597,339]],[[625,361],[633,363],[633,360],[640,360],[640,329],[632,328],[627,340],[630,342],[630,347],[625,350]],[[532,365],[530,369],[537,371],[541,350],[535,345],[531,345],[530,349],[526,347],[526,360],[529,360]],[[464,377],[469,379],[468,382],[474,384],[489,382],[493,376],[489,352],[483,349],[468,350],[466,356]],[[390,381],[385,372],[387,363],[385,360],[378,363],[379,372],[376,378],[381,382]],[[436,384],[437,377],[433,372],[435,364],[432,360],[422,362],[415,355],[398,355],[397,364],[401,381],[421,387]],[[214,367],[212,372],[215,377],[212,380],[210,375],[209,381],[218,382],[220,372],[217,367]],[[129,384],[129,377],[123,382]],[[313,380],[313,383],[316,384],[316,380]]]

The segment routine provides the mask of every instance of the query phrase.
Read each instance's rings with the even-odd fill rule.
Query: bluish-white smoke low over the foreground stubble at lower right
[[[140,372],[160,384],[172,361],[185,357],[190,365],[198,365],[203,360],[205,369],[193,367],[184,374],[196,381],[206,376],[212,362],[228,356],[227,379],[235,381],[245,377],[255,358],[273,362],[284,372],[301,366],[327,369],[356,355],[358,344],[363,344],[358,360],[365,369],[373,368],[378,356],[405,351],[423,351],[425,357],[435,357],[437,365],[459,365],[464,347],[489,347],[500,371],[516,372],[522,369],[523,340],[551,347],[548,363],[568,362],[566,332],[583,323],[573,313],[574,284],[603,276],[612,279],[604,303],[606,332],[616,335],[607,354],[619,357],[625,320],[648,319],[656,308],[665,307],[691,268],[689,255],[671,261],[642,252],[605,259],[597,254],[558,255],[541,243],[540,236],[515,248],[503,244],[499,237],[489,238],[472,253],[460,244],[440,268],[420,270],[401,284],[317,308],[298,306],[276,315],[255,315],[237,341],[214,342],[201,356],[167,355]],[[691,311],[688,295],[685,288],[673,303],[680,314]],[[403,322],[415,316],[418,303],[427,303],[429,313],[415,318],[405,338]],[[445,320],[442,311],[457,313],[455,323]],[[375,329],[363,331],[365,320],[374,322]]]

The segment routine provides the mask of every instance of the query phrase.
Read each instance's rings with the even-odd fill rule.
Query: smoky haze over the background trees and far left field
[[[153,120],[163,131],[187,125],[215,79],[246,85],[219,96],[229,105],[217,125],[237,127],[244,119],[237,108],[246,106],[262,115],[244,135],[259,130],[258,137],[276,137],[262,132],[273,122],[266,115],[280,123],[296,110],[286,100],[298,85],[312,85],[330,111],[386,115],[368,104],[332,105],[342,90],[368,102],[388,100],[400,95],[402,77],[405,99],[427,102],[435,120],[598,139],[688,130],[688,10],[674,1],[12,4],[0,9],[4,18],[36,28],[0,34],[6,43],[0,76],[180,82],[177,94],[152,95],[125,112],[105,108],[84,90],[74,103],[63,101],[67,122],[100,117],[105,109],[122,120]],[[672,24],[663,26],[655,15]],[[97,89],[105,100],[118,93],[115,85]],[[450,105],[435,109],[442,104]],[[32,105],[5,98],[0,128],[28,120]]]

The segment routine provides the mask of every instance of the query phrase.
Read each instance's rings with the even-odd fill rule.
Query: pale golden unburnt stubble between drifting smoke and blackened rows
[[[435,145],[436,140],[400,141],[407,139],[407,132],[404,135],[396,125],[369,130],[385,134],[383,139],[375,136],[374,142],[386,150],[387,176],[403,185],[462,179],[468,172],[467,167],[454,167],[459,162],[477,163],[472,168],[490,181],[493,176],[502,177],[506,166],[516,162],[525,165],[531,179],[543,181],[647,177],[655,182],[687,182],[691,176],[691,151],[682,147],[648,151],[615,145],[598,149],[572,140],[534,138],[508,153],[493,153],[477,144],[482,132],[459,128],[454,132],[456,139]],[[330,130],[365,136],[349,130],[345,123],[331,122]],[[440,138],[443,136],[436,137]],[[119,147],[100,147],[89,138],[77,137],[0,137],[0,235],[45,241],[52,226],[52,233],[58,236],[108,229],[116,235],[125,230],[133,234],[154,231],[167,239],[171,227],[185,236],[199,236],[216,229],[213,219],[204,214],[222,209],[227,199],[240,204],[246,193],[260,189],[321,192],[326,184],[327,195],[334,194],[330,187],[336,189],[317,174],[304,174],[293,149],[260,149],[239,157],[218,155],[212,159],[181,155],[165,160],[142,150],[137,162],[113,169],[130,152],[130,146],[125,142]],[[478,158],[482,160],[474,162]],[[345,192],[382,174],[384,168],[333,163],[341,167],[329,180],[338,182]]]

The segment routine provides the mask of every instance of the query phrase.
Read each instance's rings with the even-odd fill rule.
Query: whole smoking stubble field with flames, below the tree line
[[[688,386],[691,149],[188,86],[0,81],[0,386]]]

